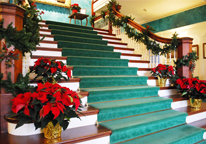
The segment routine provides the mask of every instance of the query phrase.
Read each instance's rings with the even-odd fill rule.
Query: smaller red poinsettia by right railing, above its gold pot
[[[153,68],[152,76],[159,76],[160,78],[167,78],[174,75],[174,68],[173,66],[159,64],[157,67]]]

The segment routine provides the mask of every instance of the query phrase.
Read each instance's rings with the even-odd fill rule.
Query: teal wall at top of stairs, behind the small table
[[[71,0],[71,4],[78,3],[81,8],[86,9],[86,14],[90,16],[91,1],[92,0]],[[42,4],[42,3],[36,3],[36,5],[40,11],[44,11],[44,14],[42,15],[43,20],[52,20],[52,21],[69,23],[68,16],[71,14],[70,9]],[[72,23],[74,23],[74,20],[72,20]],[[81,24],[81,22],[77,20],[77,24]],[[86,20],[83,20],[82,25],[85,24],[86,24]],[[90,26],[89,23],[88,25]]]

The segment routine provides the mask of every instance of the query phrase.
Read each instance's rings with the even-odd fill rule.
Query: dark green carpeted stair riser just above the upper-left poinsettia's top
[[[121,53],[115,53],[112,51],[90,50],[90,49],[63,48],[62,55],[63,56],[120,58]]]

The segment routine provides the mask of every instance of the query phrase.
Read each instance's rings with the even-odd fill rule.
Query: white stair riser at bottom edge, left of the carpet
[[[93,140],[88,140],[76,144],[109,144],[109,142],[110,142],[110,136],[106,136],[106,137],[96,138]]]

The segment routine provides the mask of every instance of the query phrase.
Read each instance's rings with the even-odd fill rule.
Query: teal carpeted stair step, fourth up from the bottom
[[[81,88],[89,93],[88,103],[143,98],[158,95],[159,87],[151,86],[121,86],[109,88]]]

